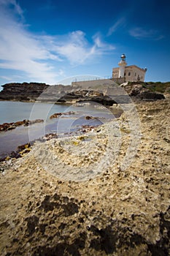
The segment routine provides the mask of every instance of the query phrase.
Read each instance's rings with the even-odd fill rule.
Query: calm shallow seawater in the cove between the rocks
[[[95,102],[79,105],[62,105],[42,102],[0,101],[0,124],[23,121],[24,119],[43,119],[43,123],[20,126],[7,132],[0,132],[0,158],[6,157],[18,146],[43,138],[50,133],[58,137],[75,135],[82,126],[97,127],[112,118],[113,113]],[[67,114],[67,113],[71,114]],[[50,119],[54,113],[63,113],[59,118]],[[96,118],[87,119],[86,116]]]

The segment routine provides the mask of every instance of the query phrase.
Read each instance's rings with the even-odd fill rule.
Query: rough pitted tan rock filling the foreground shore
[[[170,99],[136,110],[11,162],[0,255],[170,255]]]

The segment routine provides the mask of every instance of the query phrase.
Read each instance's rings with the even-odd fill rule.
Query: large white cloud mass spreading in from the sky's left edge
[[[89,42],[82,31],[63,36],[32,34],[27,31],[23,10],[15,0],[0,0],[0,23],[0,68],[25,72],[31,80],[55,83],[63,75],[61,61],[84,64],[114,49],[99,35]]]

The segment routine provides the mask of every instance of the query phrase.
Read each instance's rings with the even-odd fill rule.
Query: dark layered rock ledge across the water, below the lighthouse
[[[45,83],[7,83],[0,91],[0,100],[16,100],[40,102],[98,102],[104,106],[115,103],[128,103],[129,96],[138,100],[155,101],[164,99],[163,93],[169,93],[169,83],[123,83],[117,86],[113,83],[101,84],[91,89],[61,84],[49,86]],[[110,90],[112,93],[110,94]],[[110,96],[110,97],[109,97]],[[111,97],[112,96],[112,97]]]

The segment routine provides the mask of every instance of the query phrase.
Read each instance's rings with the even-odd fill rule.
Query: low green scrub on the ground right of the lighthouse
[[[144,88],[150,91],[158,91],[163,93],[170,93],[170,82],[128,82],[129,85],[141,84]]]

